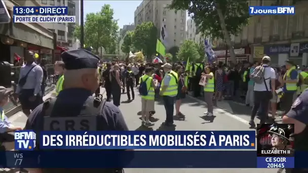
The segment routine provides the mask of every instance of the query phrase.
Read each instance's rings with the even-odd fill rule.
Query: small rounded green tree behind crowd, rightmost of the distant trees
[[[189,57],[189,62],[196,62],[200,58],[196,43],[191,40],[185,40],[183,42],[176,56],[180,61],[187,61]]]

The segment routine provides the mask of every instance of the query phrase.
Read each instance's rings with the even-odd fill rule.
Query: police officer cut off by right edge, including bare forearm
[[[294,124],[290,140],[293,141],[295,151],[308,151],[308,89],[306,89],[293,103],[291,110],[282,117],[282,122]],[[308,169],[293,168],[289,172],[308,172]]]

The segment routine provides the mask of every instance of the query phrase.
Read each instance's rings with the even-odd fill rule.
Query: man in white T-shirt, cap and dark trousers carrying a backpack
[[[260,124],[264,124],[267,119],[267,110],[270,100],[275,96],[275,70],[269,66],[271,58],[265,56],[262,58],[262,66],[264,67],[264,81],[262,83],[254,84],[254,106],[251,111],[249,124],[250,128],[255,127],[254,117],[258,112],[260,117]]]

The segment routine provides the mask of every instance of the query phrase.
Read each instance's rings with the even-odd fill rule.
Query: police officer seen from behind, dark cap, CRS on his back
[[[28,117],[25,129],[41,131],[128,131],[117,106],[92,96],[99,85],[99,58],[78,49],[63,52],[65,86],[58,97],[36,107]],[[40,150],[36,140],[36,148]],[[80,158],[87,159],[87,158]],[[121,172],[122,169],[36,168],[34,172]]]

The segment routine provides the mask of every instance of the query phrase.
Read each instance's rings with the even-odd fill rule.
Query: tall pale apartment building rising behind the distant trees
[[[151,21],[159,28],[158,35],[161,33],[163,23],[166,25],[167,50],[174,46],[180,47],[186,37],[186,11],[169,10],[167,5],[170,3],[171,1],[142,1],[134,14],[135,25]]]

